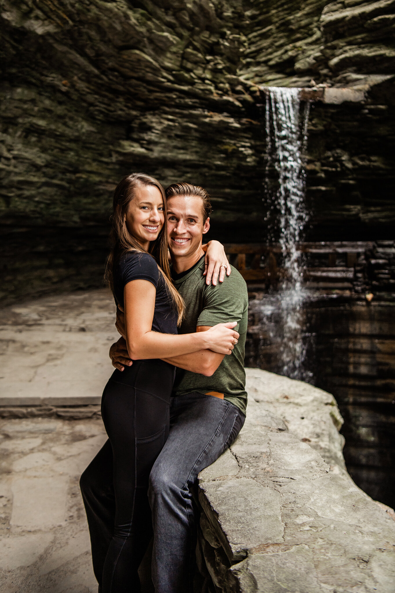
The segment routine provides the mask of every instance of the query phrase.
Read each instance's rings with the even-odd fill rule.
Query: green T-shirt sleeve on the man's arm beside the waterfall
[[[248,305],[247,286],[237,270],[232,269],[230,276],[216,286],[206,286],[203,295],[203,310],[198,318],[198,326],[215,326],[217,323],[241,321]]]

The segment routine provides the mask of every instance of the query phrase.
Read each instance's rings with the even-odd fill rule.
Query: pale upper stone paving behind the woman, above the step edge
[[[99,404],[119,338],[107,289],[0,311],[0,406]]]

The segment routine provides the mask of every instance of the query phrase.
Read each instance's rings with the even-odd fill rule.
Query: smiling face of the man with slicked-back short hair
[[[203,224],[203,200],[198,196],[173,196],[167,200],[167,238],[171,254],[187,257],[202,245],[202,235],[210,228]]]

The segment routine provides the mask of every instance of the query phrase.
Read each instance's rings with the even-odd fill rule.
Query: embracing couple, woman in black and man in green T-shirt
[[[101,593],[140,591],[152,533],[155,592],[192,593],[198,473],[246,417],[247,287],[221,244],[202,246],[210,213],[202,187],[164,191],[142,173],[114,193],[107,273],[123,337],[101,404],[109,440],[81,477]]]

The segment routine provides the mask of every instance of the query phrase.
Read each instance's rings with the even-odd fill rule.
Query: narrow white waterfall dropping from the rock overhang
[[[279,372],[308,380],[309,373],[304,368],[307,344],[302,311],[306,292],[302,286],[301,253],[297,244],[302,240],[308,220],[303,157],[310,103],[306,103],[301,116],[299,92],[298,88],[283,87],[266,90],[266,177],[268,180],[269,168],[274,164],[279,189],[270,197],[275,202],[272,209],[278,212],[277,240],[286,277],[274,297],[276,303],[270,303],[269,298],[262,305],[263,314],[266,313],[266,329],[272,341],[279,345]],[[266,187],[269,187],[268,183]],[[273,238],[270,237],[272,241]]]

